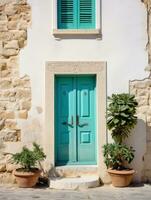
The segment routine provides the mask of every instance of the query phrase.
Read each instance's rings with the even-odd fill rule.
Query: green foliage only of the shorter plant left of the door
[[[21,165],[22,171],[30,172],[36,168],[40,161],[46,158],[46,155],[40,145],[33,143],[33,150],[24,146],[22,151],[13,154],[12,158],[14,163]]]

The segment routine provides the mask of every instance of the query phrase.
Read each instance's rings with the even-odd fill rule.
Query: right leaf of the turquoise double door
[[[95,163],[95,78],[79,77],[77,80],[78,161]]]

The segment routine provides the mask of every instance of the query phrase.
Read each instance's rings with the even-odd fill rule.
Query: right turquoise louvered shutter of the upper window
[[[78,28],[95,28],[95,0],[79,0]]]

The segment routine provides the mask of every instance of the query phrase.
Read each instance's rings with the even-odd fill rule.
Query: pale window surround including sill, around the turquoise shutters
[[[53,0],[53,34],[54,35],[95,35],[100,34],[101,31],[101,0],[95,2],[95,28],[94,29],[59,29],[58,28],[58,8],[57,0]]]

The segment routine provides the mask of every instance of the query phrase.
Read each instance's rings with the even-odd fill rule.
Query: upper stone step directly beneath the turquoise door
[[[91,176],[91,175],[97,176],[98,167],[94,165],[61,166],[61,167],[55,167],[55,174],[58,177],[81,177],[81,176]]]

